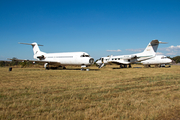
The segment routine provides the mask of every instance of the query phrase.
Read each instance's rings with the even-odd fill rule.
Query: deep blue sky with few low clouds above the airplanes
[[[87,52],[95,60],[142,52],[180,55],[180,0],[0,0],[0,60],[33,59],[40,50]]]

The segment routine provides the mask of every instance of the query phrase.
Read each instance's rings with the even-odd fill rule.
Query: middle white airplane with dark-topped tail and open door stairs
[[[160,42],[158,40],[152,40],[148,44],[146,49],[141,53],[132,54],[132,55],[102,57],[96,62],[96,64],[99,65],[99,68],[102,68],[104,64],[107,63],[115,63],[117,65],[120,65],[120,68],[123,67],[127,68],[127,65],[131,67],[131,63],[140,62],[155,57],[159,43],[164,43],[164,42]]]

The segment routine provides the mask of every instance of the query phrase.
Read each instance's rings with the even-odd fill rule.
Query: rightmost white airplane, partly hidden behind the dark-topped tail
[[[151,59],[141,61],[141,63],[145,67],[151,67],[151,65],[155,65],[155,67],[158,67],[158,66],[159,67],[165,67],[166,64],[169,64],[171,62],[172,62],[172,60],[167,58],[164,55],[156,55],[155,57],[153,57]]]

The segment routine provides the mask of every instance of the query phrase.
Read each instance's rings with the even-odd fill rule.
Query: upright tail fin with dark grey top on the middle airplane
[[[157,48],[159,46],[159,41],[158,40],[152,40],[148,46],[146,47],[146,49],[143,51],[143,53],[148,54],[148,55],[154,55],[156,54]]]

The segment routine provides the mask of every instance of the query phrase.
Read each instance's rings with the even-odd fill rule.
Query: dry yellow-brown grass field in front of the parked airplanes
[[[180,119],[180,66],[117,67],[2,67],[0,119]]]

